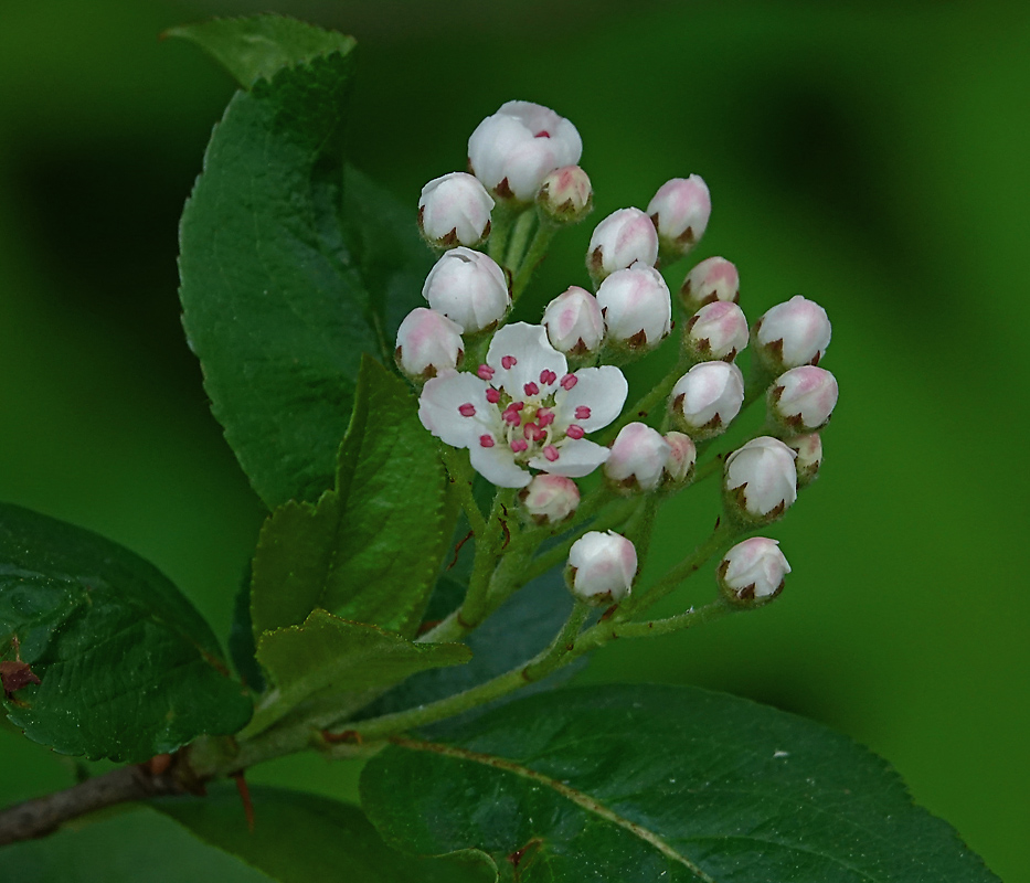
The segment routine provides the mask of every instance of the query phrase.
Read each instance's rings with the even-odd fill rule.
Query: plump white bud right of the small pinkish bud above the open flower
[[[654,349],[672,329],[669,286],[654,267],[616,270],[597,289],[597,302],[608,340],[630,349]]]

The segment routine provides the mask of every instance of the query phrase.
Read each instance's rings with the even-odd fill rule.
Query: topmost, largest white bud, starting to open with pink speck
[[[501,199],[532,202],[546,175],[574,166],[583,152],[580,132],[564,117],[531,102],[508,102],[468,139],[472,174]]]

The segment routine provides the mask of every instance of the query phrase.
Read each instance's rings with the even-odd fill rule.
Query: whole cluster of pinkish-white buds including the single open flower
[[[608,445],[587,438],[622,414],[628,385],[617,365],[672,331],[673,298],[658,264],[690,253],[708,228],[711,194],[699,175],[667,181],[646,211],[619,209],[596,225],[586,251],[592,290],[570,286],[540,325],[506,323],[520,287],[512,291],[511,280],[532,266],[501,247],[505,236],[516,221],[520,230],[535,223],[554,231],[590,212],[582,149],[567,119],[509,102],[469,138],[468,172],[423,188],[418,225],[442,254],[423,287],[428,308],[404,319],[396,342],[399,366],[421,386],[420,419],[445,445],[468,450],[490,482],[518,489],[525,529],[559,533],[575,523],[575,479],[597,468],[622,496],[689,485],[699,446],[724,433],[764,387],[767,435],[725,457],[723,497],[740,530],[774,521],[819,470],[819,430],[837,402],[837,382],[818,364],[830,326],[821,307],[797,296],[748,329],[740,274],[723,257],[698,263],[679,289],[680,364],[688,370],[665,387],[662,429],[619,422]],[[745,380],[736,360],[748,344]],[[732,603],[755,604],[774,597],[789,570],[775,541],[753,538],[730,550],[718,579]],[[617,604],[636,571],[630,540],[591,531],[571,546],[566,578],[581,600]]]

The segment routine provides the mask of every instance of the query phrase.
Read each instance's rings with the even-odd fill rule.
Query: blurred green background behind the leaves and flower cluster
[[[886,757],[1008,883],[1030,881],[1026,8],[0,6],[0,499],[149,557],[222,636],[262,512],[182,340],[174,258],[233,87],[157,35],[269,6],[359,38],[351,156],[413,222],[421,185],[464,168],[475,125],[525,98],[578,127],[592,223],[700,173],[714,211],[695,256],[737,264],[748,318],[797,292],[827,308],[841,403],[821,480],[773,530],[794,566],[785,595],[614,646],[580,680],[698,683],[820,720]],[[592,223],[559,240],[525,318],[584,284]],[[660,369],[631,380],[644,389]],[[716,490],[668,507],[655,570],[709,529]],[[668,608],[705,599],[709,579]],[[0,804],[73,775],[0,731]],[[311,758],[253,778],[349,797],[354,777]],[[136,858],[91,876],[88,857],[112,844]],[[123,864],[126,880],[263,879],[211,854],[171,822],[115,813],[11,850],[0,879],[120,880]]]

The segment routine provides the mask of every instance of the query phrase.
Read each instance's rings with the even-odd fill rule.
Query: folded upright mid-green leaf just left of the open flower
[[[406,384],[371,359],[358,382],[337,486],[269,515],[254,558],[256,634],[322,608],[413,635],[456,512],[436,440]]]

